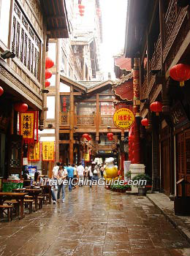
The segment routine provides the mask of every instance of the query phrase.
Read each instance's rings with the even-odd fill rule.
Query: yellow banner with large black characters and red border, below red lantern
[[[23,135],[25,143],[34,143],[36,111],[19,114],[19,135]]]

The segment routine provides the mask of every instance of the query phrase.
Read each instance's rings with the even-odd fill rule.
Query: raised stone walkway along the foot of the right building
[[[172,225],[190,243],[190,217],[175,215],[174,202],[163,193],[148,193],[147,197],[161,210],[161,213],[164,214],[168,221],[172,223]]]

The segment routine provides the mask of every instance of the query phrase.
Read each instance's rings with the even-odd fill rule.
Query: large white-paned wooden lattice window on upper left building
[[[21,63],[39,80],[39,53],[41,41],[31,24],[20,10],[18,4],[14,4],[12,23],[12,51]]]

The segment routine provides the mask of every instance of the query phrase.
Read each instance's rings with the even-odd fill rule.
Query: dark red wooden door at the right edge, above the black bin
[[[177,135],[176,149],[176,179],[190,182],[190,129]],[[178,189],[181,195],[181,186]],[[190,196],[190,184],[186,185],[186,195]]]

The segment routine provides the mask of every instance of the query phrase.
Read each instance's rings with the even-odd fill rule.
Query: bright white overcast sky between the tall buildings
[[[125,42],[127,0],[99,0],[102,10],[102,69],[113,72],[113,56],[122,52]]]

